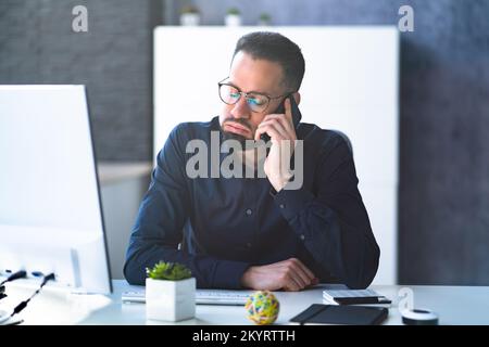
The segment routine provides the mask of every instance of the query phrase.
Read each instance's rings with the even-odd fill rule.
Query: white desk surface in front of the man
[[[66,295],[54,290],[42,292],[22,312],[24,324],[171,324],[147,321],[145,305],[122,304],[121,293],[130,288],[123,280],[114,280],[114,293],[101,295]],[[322,301],[322,288],[299,293],[276,293],[280,301],[280,313],[276,324],[288,324],[288,320],[311,304]],[[393,300],[389,317],[384,324],[402,324],[397,308],[398,293],[403,286],[375,285],[374,290]],[[436,311],[440,324],[489,324],[488,286],[410,286],[414,292],[415,307]],[[8,288],[9,297],[0,301],[5,310],[25,299],[33,291]],[[14,293],[13,293],[14,292]],[[238,306],[197,306],[196,318],[177,324],[251,324],[244,317],[244,309]]]

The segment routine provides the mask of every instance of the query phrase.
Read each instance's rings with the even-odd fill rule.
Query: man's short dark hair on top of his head
[[[284,83],[290,91],[298,91],[304,77],[305,62],[299,46],[278,33],[255,31],[241,37],[236,43],[233,60],[238,52],[253,59],[264,59],[280,64]]]

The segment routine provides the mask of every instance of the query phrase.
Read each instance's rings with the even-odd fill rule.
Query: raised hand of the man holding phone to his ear
[[[264,163],[264,171],[275,191],[279,192],[292,177],[290,157],[297,140],[289,99],[285,102],[285,115],[269,114],[263,118],[256,128],[254,140],[260,140],[265,132],[271,137],[272,147]]]

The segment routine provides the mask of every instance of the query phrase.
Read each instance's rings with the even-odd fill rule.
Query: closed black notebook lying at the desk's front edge
[[[388,312],[385,307],[313,304],[293,317],[290,324],[378,325],[386,320]]]

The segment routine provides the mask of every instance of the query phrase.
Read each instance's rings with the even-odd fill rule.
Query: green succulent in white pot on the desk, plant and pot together
[[[158,262],[146,269],[146,317],[181,321],[196,316],[196,279],[177,262]]]

